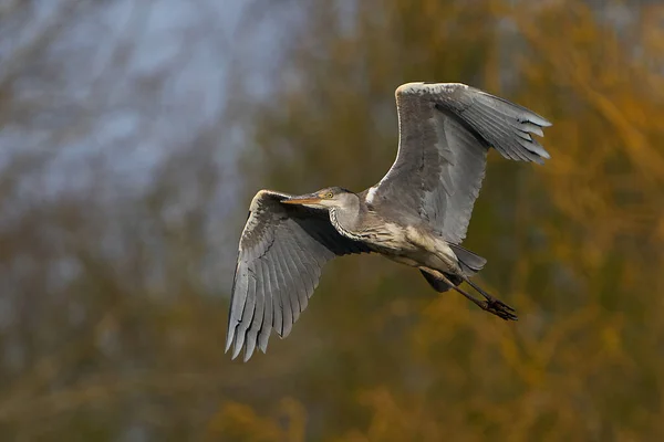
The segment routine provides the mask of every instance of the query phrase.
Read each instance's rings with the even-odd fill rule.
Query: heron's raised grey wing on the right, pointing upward
[[[396,90],[398,152],[367,202],[400,201],[443,238],[466,238],[489,147],[505,158],[542,164],[532,138],[550,126],[525,107],[459,83],[407,83]]]

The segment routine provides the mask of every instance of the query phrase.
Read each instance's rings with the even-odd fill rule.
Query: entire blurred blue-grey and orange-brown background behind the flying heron
[[[664,440],[664,4],[0,2],[2,441]],[[465,245],[508,324],[378,256],[224,355],[261,188],[375,183],[394,90],[553,122]]]

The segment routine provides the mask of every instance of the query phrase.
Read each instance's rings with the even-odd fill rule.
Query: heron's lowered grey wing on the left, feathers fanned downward
[[[289,194],[259,191],[240,238],[232,284],[226,351],[246,346],[264,352],[272,328],[286,337],[307,308],[323,265],[335,256],[370,250],[342,236],[326,211],[282,204]]]

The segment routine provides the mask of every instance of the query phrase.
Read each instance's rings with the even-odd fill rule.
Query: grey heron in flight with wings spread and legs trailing
[[[543,117],[459,83],[407,83],[395,92],[396,160],[381,181],[354,193],[330,187],[291,196],[260,190],[240,238],[226,351],[263,352],[272,329],[284,338],[307,308],[323,265],[380,253],[416,267],[436,292],[454,290],[481,309],[516,320],[513,308],[471,281],[486,260],[460,244],[490,147],[542,164],[532,138]],[[481,298],[459,287],[467,283]]]

